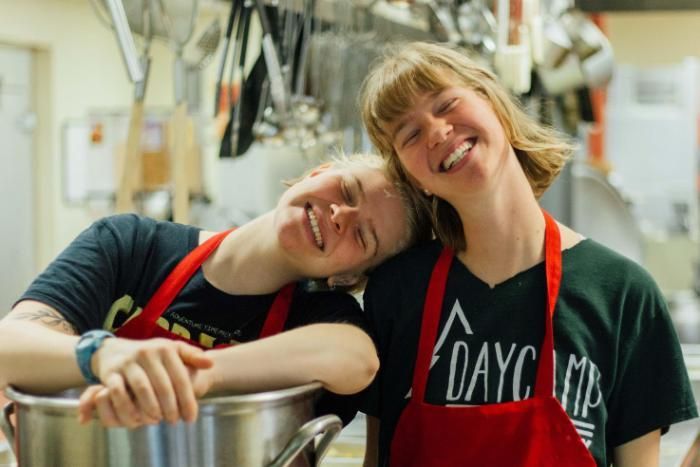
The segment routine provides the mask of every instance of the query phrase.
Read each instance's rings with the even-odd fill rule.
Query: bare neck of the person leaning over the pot
[[[284,258],[269,212],[229,234],[202,269],[217,289],[232,295],[259,295],[302,279]]]

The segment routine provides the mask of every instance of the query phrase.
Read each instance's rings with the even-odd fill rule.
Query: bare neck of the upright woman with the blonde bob
[[[541,209],[522,171],[510,178],[478,200],[455,203],[467,241],[457,257],[491,287],[544,259]]]

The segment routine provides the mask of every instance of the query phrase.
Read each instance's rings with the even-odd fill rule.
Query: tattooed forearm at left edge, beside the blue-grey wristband
[[[75,359],[78,336],[45,306],[20,303],[0,321],[0,388],[56,392],[84,384]]]

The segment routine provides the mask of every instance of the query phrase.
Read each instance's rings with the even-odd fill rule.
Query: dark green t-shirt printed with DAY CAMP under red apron
[[[379,465],[388,465],[394,429],[410,397],[425,294],[441,248],[432,242],[389,260],[371,275],[365,292],[381,366],[363,406],[380,418]],[[564,251],[562,259],[555,395],[598,465],[609,465],[614,447],[696,417],[697,409],[652,278],[592,240]],[[492,289],[455,258],[426,400],[478,405],[532,397],[545,290],[543,263]],[[493,448],[502,448],[498,440]]]

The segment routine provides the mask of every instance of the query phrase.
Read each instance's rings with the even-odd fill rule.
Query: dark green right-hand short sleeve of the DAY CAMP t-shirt
[[[676,331],[651,277],[627,292],[620,322],[611,447],[698,416]]]

